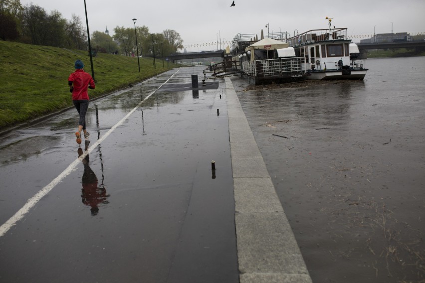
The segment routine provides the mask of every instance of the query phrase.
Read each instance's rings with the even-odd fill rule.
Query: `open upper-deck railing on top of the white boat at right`
[[[298,45],[330,40],[331,38],[332,40],[347,39],[347,28],[333,28],[331,29],[331,34],[329,33],[329,29],[312,29],[289,38],[288,43],[289,46],[295,47]]]

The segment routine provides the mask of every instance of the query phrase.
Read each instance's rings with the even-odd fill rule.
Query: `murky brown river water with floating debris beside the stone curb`
[[[313,282],[424,282],[425,57],[366,67],[232,82]]]

